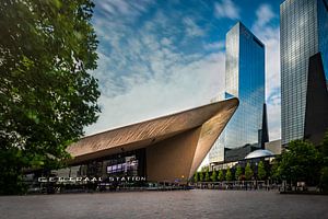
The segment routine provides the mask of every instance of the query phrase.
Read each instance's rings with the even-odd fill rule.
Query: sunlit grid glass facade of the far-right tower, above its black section
[[[304,138],[309,57],[321,53],[327,77],[327,0],[285,0],[280,5],[282,145]]]

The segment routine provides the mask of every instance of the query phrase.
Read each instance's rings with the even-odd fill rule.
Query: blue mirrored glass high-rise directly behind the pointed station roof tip
[[[225,47],[224,97],[238,97],[239,107],[210,152],[210,162],[223,161],[224,148],[259,143],[262,128],[265,45],[238,22],[226,33]]]

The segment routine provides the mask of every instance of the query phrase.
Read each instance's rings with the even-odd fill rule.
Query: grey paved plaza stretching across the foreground
[[[0,218],[328,218],[328,196],[255,191],[130,192],[0,197]]]

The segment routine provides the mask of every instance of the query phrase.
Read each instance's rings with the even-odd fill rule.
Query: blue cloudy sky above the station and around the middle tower
[[[225,34],[266,45],[270,140],[280,139],[279,0],[95,0],[102,108],[86,135],[210,103],[224,91]]]

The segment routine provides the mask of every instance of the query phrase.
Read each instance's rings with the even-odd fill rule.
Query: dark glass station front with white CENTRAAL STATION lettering
[[[90,160],[59,170],[42,170],[27,174],[31,188],[56,192],[66,189],[108,191],[117,186],[142,186],[147,183],[145,149]]]

